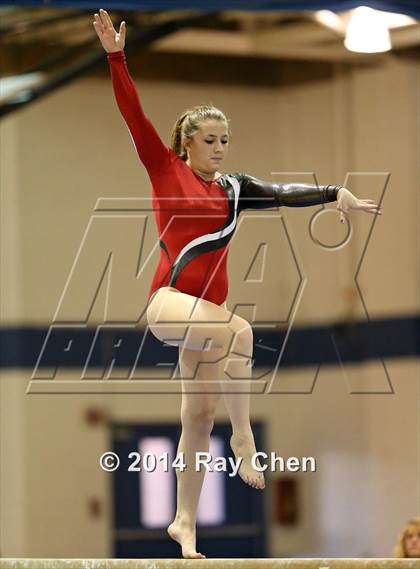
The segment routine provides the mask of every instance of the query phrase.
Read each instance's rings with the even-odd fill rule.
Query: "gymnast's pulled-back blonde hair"
[[[182,139],[194,136],[200,130],[201,124],[208,120],[226,123],[230,136],[229,121],[223,111],[217,107],[213,105],[197,105],[187,109],[174,124],[171,134],[171,148],[182,160],[187,160],[188,158]]]

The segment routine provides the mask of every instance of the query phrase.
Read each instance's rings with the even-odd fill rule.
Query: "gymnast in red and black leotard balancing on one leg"
[[[212,105],[184,112],[175,123],[171,148],[167,147],[144,114],[129,75],[125,22],[117,32],[101,9],[93,25],[107,52],[117,105],[152,183],[160,260],[149,290],[148,325],[159,340],[179,349],[182,433],[178,453],[183,453],[187,468],[176,471],[177,511],[168,533],[180,544],[184,558],[203,559],[196,550],[195,526],[205,472],[197,472],[192,465],[197,452],[209,450],[221,397],[232,424],[232,451],[242,459],[239,476],[253,488],[265,487],[262,473],[251,464],[256,448],[249,389],[244,392],[235,382],[252,378],[252,328],[231,313],[225,302],[227,251],[239,213],[247,208],[333,201],[338,202],[341,221],[349,210],[382,211],[374,200],[358,199],[339,185],[274,184],[243,173],[220,173],[230,130],[223,112]],[[191,380],[197,382],[194,393],[188,389]]]

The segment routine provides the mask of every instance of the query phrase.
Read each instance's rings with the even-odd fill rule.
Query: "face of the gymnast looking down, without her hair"
[[[207,120],[200,130],[184,140],[187,164],[199,172],[213,174],[223,162],[229,146],[228,127],[224,121]]]

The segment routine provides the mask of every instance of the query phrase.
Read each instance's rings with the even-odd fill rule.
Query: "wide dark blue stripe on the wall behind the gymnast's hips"
[[[163,345],[144,329],[3,328],[0,330],[0,367],[33,369],[42,351],[42,368],[106,370],[176,364],[178,350]],[[281,352],[286,330],[254,330],[254,367],[273,366]],[[400,317],[370,322],[336,323],[329,326],[293,328],[281,360],[283,366],[337,365],[339,361],[360,362],[377,358],[420,355],[420,317]]]

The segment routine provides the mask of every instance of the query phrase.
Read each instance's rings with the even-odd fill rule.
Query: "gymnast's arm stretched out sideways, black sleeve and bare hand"
[[[337,201],[340,221],[350,210],[383,213],[374,200],[359,199],[341,185],[318,186],[316,184],[274,184],[246,174],[235,174],[240,183],[239,210],[270,207],[304,207]]]

